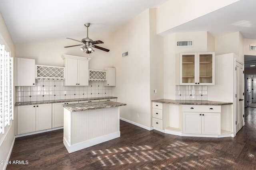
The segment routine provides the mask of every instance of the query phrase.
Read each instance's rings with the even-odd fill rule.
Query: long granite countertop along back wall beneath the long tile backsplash
[[[15,106],[33,105],[33,104],[49,104],[49,103],[62,103],[62,102],[79,102],[88,100],[102,100],[102,99],[116,99],[117,97],[100,97],[100,98],[83,98],[83,99],[68,99],[68,100],[47,100],[35,102],[16,102]]]

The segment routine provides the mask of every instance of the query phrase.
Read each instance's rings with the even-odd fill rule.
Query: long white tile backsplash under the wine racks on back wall
[[[64,86],[64,80],[36,80],[35,86],[16,86],[16,102],[35,102],[112,96],[112,87],[103,82],[89,86]]]

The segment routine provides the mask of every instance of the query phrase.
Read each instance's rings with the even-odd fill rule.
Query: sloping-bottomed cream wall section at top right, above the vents
[[[228,6],[238,0],[169,0],[157,8],[157,33]]]

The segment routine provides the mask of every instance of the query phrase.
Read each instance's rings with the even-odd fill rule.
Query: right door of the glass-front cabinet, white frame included
[[[197,80],[200,85],[214,85],[214,53],[197,54]]]

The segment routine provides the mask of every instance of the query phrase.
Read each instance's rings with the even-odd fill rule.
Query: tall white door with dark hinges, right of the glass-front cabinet
[[[236,62],[236,133],[244,125],[244,68],[243,65]]]

